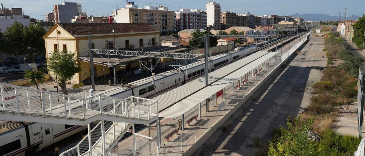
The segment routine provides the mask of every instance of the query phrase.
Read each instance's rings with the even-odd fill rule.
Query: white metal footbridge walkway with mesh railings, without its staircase
[[[157,118],[157,101],[139,97],[64,95],[6,83],[0,83],[0,91],[2,120],[87,125],[96,120],[149,124]]]

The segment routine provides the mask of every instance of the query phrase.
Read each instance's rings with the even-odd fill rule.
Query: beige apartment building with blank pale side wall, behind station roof
[[[147,23],[162,34],[176,31],[175,12],[159,6],[138,8],[134,2],[128,2],[126,8],[112,11],[115,23]]]

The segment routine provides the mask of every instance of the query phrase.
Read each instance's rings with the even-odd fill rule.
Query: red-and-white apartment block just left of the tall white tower
[[[201,14],[205,14],[205,18],[200,17],[202,16]],[[201,13],[199,9],[180,9],[175,12],[175,15],[177,31],[184,29],[207,28],[207,14],[205,12]],[[201,24],[201,22],[204,24]]]

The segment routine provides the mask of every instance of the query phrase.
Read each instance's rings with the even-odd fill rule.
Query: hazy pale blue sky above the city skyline
[[[23,8],[24,14],[30,15],[38,20],[45,19],[46,13],[52,12],[53,5],[61,4],[64,0],[3,0],[4,7]],[[82,10],[86,9],[87,15],[111,15],[111,11],[117,6],[125,7],[124,0],[65,0],[66,2],[79,2]],[[129,0],[131,1],[131,0]],[[205,0],[143,0],[134,1],[138,7],[145,5],[158,6],[166,5],[170,11],[181,8],[199,8],[205,10]],[[338,16],[341,11],[343,16],[344,8],[347,8],[346,16],[351,14],[361,16],[365,13],[365,0],[216,0],[220,4],[221,11],[235,13],[251,12],[255,15],[291,15],[294,13],[324,13],[331,16]],[[32,14],[32,15],[31,15]]]

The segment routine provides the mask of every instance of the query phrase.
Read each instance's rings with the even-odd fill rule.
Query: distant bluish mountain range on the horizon
[[[295,13],[293,15],[289,15],[293,17],[302,17],[304,21],[335,21],[338,20],[338,16],[330,16],[322,13],[304,13],[300,15],[299,13]],[[354,15],[353,20],[358,20],[359,16]],[[351,16],[347,17],[346,20],[351,20]],[[341,20],[343,20],[343,16],[341,16]]]

